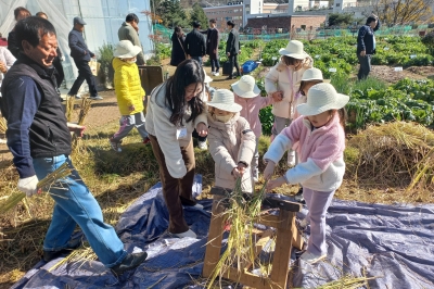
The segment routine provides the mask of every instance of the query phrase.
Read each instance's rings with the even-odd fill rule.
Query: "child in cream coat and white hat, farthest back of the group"
[[[290,126],[295,109],[294,96],[298,91],[303,73],[314,65],[314,60],[304,51],[301,41],[291,40],[279,53],[282,55],[280,62],[265,77],[267,93],[275,99],[282,99],[281,102],[272,105],[275,124],[271,133],[273,137]],[[295,165],[295,153],[292,150],[288,152],[288,164]]]

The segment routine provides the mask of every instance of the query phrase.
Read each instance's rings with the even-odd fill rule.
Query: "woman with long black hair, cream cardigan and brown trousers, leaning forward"
[[[192,133],[208,133],[206,104],[200,96],[205,75],[194,60],[181,62],[175,75],[151,93],[145,126],[152,150],[159,165],[159,179],[169,212],[168,231],[183,238],[195,238],[183,217],[182,205],[203,206],[192,199],[194,150]]]

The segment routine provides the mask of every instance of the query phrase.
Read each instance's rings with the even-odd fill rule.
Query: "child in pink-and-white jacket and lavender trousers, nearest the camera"
[[[301,222],[310,223],[310,237],[301,260],[314,264],[327,256],[326,213],[344,173],[345,111],[349,97],[340,95],[330,84],[318,84],[307,92],[307,102],[296,110],[303,117],[295,120],[276,137],[264,159],[268,162],[264,177],[270,179],[276,163],[299,141],[299,163],[282,177],[269,180],[271,190],[283,184],[303,186],[309,213]]]

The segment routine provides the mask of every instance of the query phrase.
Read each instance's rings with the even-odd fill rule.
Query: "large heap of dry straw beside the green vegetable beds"
[[[414,123],[371,125],[348,141],[358,151],[347,172],[363,185],[408,187],[434,184],[434,133]]]

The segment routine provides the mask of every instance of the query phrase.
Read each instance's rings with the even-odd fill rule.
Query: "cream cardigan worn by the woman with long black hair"
[[[199,123],[207,124],[205,108],[202,114],[197,115],[194,122],[187,123],[191,115],[188,109],[183,116],[183,127],[187,129],[187,135],[182,139],[177,138],[177,130],[182,127],[175,126],[169,118],[171,111],[166,102],[166,83],[157,86],[151,93],[148,103],[145,127],[146,131],[155,136],[158,144],[164,153],[167,171],[174,178],[182,178],[187,174],[186,164],[182,160],[181,147],[187,147],[191,140],[191,134]]]

